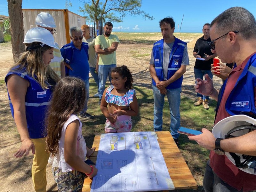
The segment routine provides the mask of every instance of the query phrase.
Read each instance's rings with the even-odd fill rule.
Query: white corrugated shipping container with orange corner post
[[[48,12],[55,20],[56,32],[53,34],[60,48],[70,43],[69,28],[85,25],[85,17],[77,15],[68,9],[22,9],[24,22],[24,36],[27,31],[36,26],[36,16],[40,12]]]

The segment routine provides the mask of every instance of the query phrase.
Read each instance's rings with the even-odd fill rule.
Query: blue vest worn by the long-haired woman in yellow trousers
[[[30,85],[28,87],[26,96],[25,96],[25,107],[26,107],[26,120],[28,133],[31,139],[38,139],[46,137],[44,133],[44,117],[45,110],[50,103],[50,97],[52,94],[51,89],[43,90],[40,84],[38,84],[31,76],[26,73],[26,70],[23,71],[9,71],[5,77],[5,83],[7,86],[7,77],[9,75],[18,75],[27,81]],[[14,118],[14,111],[12,106],[12,101],[9,96],[9,102],[12,112],[12,117]]]

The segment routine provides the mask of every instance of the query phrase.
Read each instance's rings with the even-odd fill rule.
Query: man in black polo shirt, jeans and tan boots
[[[204,36],[197,39],[193,55],[196,58],[196,64],[194,67],[195,79],[200,78],[203,79],[205,74],[208,74],[212,79],[211,72],[211,64],[213,63],[213,58],[217,55],[216,53],[211,52],[210,46],[207,44],[211,41],[210,38],[210,24],[205,23],[203,26]],[[196,93],[197,101],[195,102],[195,106],[199,106],[203,103],[204,109],[209,109],[208,100],[209,95],[202,95],[200,93]]]

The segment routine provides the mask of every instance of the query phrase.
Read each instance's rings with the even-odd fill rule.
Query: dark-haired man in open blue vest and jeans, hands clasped
[[[159,22],[163,39],[154,43],[149,71],[153,81],[154,94],[154,130],[162,131],[164,97],[167,96],[173,139],[178,144],[180,128],[180,92],[183,74],[188,60],[187,43],[173,36],[175,23],[172,17]]]

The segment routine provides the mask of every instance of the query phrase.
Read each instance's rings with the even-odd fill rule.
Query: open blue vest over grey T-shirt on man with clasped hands
[[[170,53],[169,58],[169,66],[168,66],[168,72],[167,72],[167,78],[164,78],[164,70],[163,70],[163,57],[164,57],[164,39],[161,39],[154,43],[153,46],[153,56],[154,56],[154,63],[155,63],[155,70],[156,70],[156,76],[158,77],[159,81],[164,81],[167,79],[170,79],[173,74],[178,71],[178,69],[181,66],[182,58],[183,58],[183,51],[185,48],[185,45],[187,43],[181,41],[180,39],[175,37],[174,44],[172,46],[172,50]],[[176,89],[180,88],[182,84],[183,76],[181,76],[176,81],[169,84],[166,89]],[[152,78],[153,85],[156,86],[156,82]]]

